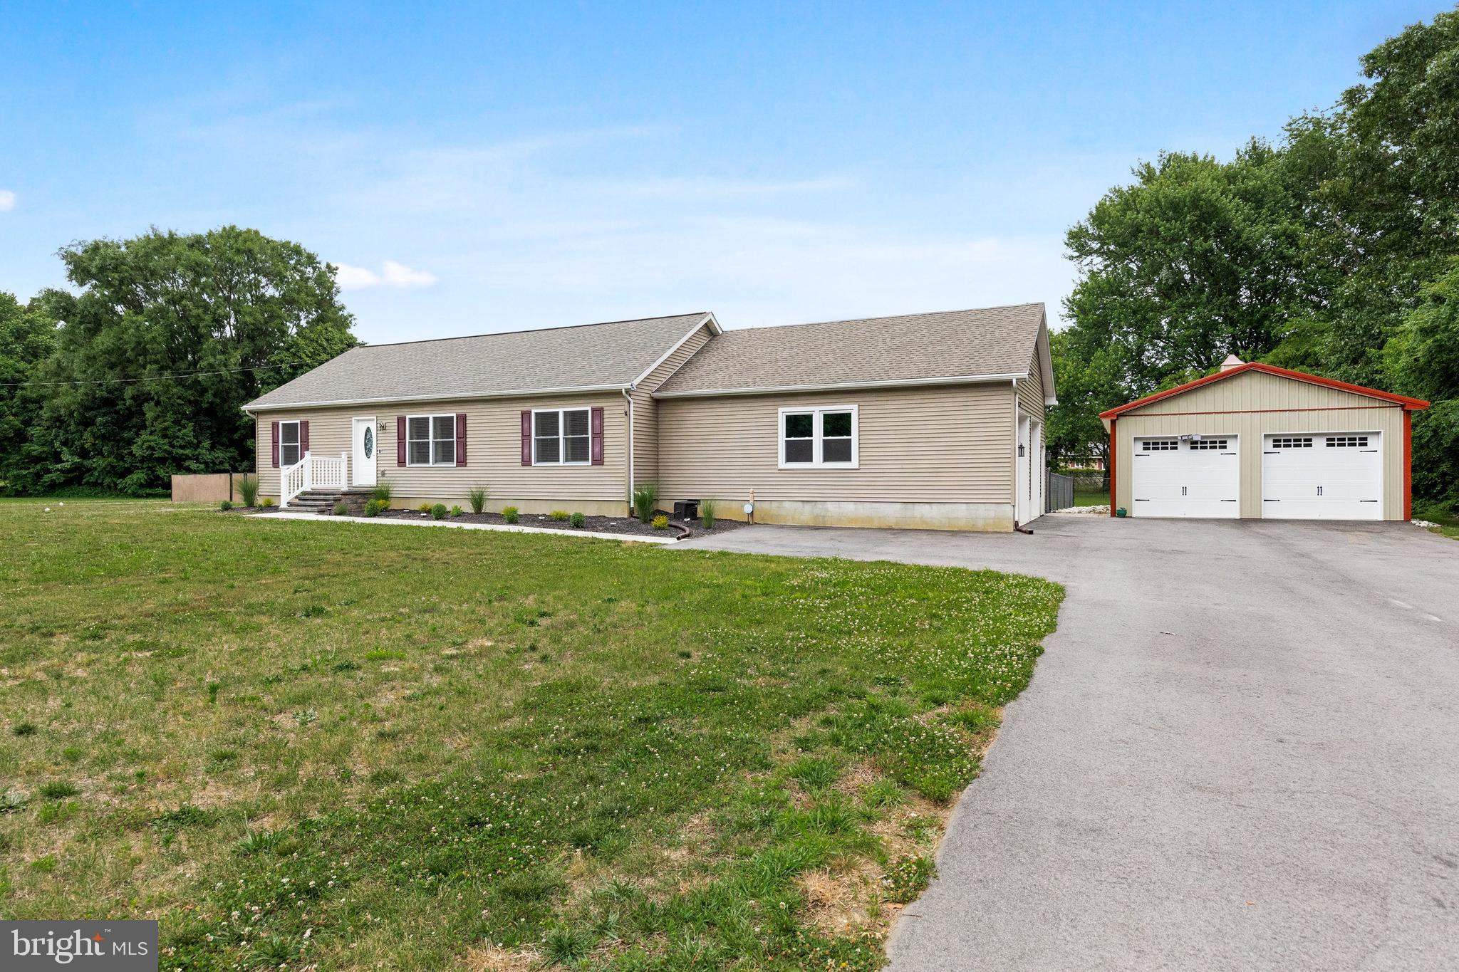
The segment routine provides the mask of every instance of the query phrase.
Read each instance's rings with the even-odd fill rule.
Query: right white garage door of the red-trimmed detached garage
[[[1383,452],[1376,431],[1281,434],[1262,442],[1262,516],[1383,519]]]

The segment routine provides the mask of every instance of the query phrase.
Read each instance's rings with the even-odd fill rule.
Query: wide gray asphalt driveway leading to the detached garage
[[[684,546],[1068,587],[891,968],[1459,968],[1459,544],[1046,516]]]

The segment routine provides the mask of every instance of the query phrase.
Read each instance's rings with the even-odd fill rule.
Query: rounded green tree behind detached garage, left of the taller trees
[[[1106,444],[1097,414],[1275,348],[1304,313],[1303,201],[1280,152],[1166,153],[1067,238],[1080,280],[1052,345],[1050,450]]]

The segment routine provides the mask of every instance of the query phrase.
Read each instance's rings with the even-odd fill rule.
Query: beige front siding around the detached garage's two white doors
[[[1115,426],[1115,503],[1134,503],[1134,442],[1150,436],[1236,434],[1240,514],[1262,516],[1262,437],[1272,433],[1382,433],[1383,517],[1404,519],[1404,409],[1382,399],[1246,372],[1121,415]]]

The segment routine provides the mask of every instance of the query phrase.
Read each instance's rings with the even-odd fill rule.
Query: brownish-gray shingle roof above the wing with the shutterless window
[[[1042,303],[725,331],[655,395],[1026,375]]]

